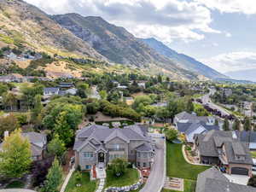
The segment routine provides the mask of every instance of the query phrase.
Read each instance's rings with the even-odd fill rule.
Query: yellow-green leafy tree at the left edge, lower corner
[[[32,163],[32,151],[27,138],[19,129],[5,137],[0,151],[0,174],[5,177],[22,177]]]

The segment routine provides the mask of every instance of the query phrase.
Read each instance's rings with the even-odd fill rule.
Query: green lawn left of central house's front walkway
[[[74,176],[74,173],[73,173]],[[82,172],[82,185],[80,187],[76,186],[75,177],[71,177],[67,183],[67,188],[65,192],[94,192],[96,190],[96,181],[90,181],[90,173]],[[75,190],[76,189],[76,190]]]

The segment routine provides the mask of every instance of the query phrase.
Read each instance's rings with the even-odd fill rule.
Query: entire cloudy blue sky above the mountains
[[[26,0],[48,14],[102,16],[221,73],[256,68],[255,0]]]

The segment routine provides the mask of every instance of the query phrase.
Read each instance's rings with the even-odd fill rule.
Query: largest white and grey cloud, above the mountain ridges
[[[75,12],[97,15],[118,26],[124,26],[138,38],[158,38],[170,44],[173,40],[201,40],[212,29],[211,11],[200,3],[179,0],[26,0],[49,14]]]

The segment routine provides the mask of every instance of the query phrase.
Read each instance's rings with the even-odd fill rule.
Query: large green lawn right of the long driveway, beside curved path
[[[204,172],[209,166],[193,166],[184,160],[182,144],[166,143],[166,166],[168,177],[178,177],[196,180],[197,175]]]

